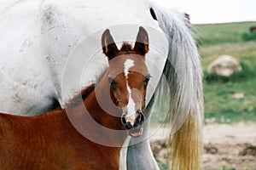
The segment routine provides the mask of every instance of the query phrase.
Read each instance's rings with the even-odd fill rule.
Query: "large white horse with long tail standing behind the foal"
[[[107,63],[96,57],[102,55],[102,31],[110,29],[123,42],[135,39],[139,26],[150,41],[147,111],[158,92],[170,91],[171,167],[200,169],[203,99],[195,42],[183,14],[146,0],[1,0],[0,111],[31,116],[65,108]],[[120,169],[159,169],[148,126],[143,136],[127,139]]]

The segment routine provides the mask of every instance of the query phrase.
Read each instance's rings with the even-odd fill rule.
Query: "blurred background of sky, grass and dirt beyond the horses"
[[[256,170],[256,1],[158,0],[189,14],[204,72],[205,170]],[[152,126],[164,122],[157,105]],[[161,127],[164,128],[164,127]],[[151,138],[161,169],[166,136]]]

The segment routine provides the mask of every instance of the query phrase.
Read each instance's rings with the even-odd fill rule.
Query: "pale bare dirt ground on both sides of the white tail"
[[[153,127],[150,130],[152,150],[157,161],[166,161],[168,130]],[[205,170],[256,170],[256,123],[210,124],[204,127]]]

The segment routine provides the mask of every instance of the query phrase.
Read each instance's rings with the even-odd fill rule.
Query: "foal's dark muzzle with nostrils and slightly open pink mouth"
[[[139,137],[143,134],[143,122],[145,120],[145,116],[142,111],[136,112],[136,117],[134,120],[133,125],[131,125],[131,122],[127,122],[125,115],[121,117],[121,122],[125,126],[126,130],[129,132],[129,135],[131,137]]]

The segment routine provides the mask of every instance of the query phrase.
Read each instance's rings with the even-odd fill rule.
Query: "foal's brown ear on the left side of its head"
[[[113,59],[113,57],[119,53],[119,49],[113,41],[113,37],[108,29],[102,34],[102,50],[103,53],[108,56],[108,60]]]

